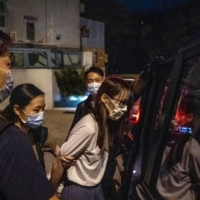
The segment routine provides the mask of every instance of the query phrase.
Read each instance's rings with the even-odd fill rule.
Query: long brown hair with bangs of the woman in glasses
[[[118,77],[109,77],[106,78],[105,81],[102,83],[101,87],[98,90],[98,93],[95,98],[95,106],[93,109],[94,118],[98,123],[98,139],[97,144],[101,149],[101,152],[108,149],[108,146],[113,142],[113,138],[108,136],[108,109],[105,107],[104,103],[101,101],[102,94],[105,93],[109,97],[113,98],[114,96],[120,94],[120,96],[130,96],[131,91],[129,85],[121,78]],[[128,110],[130,105],[128,104]],[[127,112],[128,113],[128,112]],[[126,116],[120,118],[120,120],[116,121],[116,124],[124,124]],[[114,122],[115,123],[115,122]],[[120,126],[118,126],[120,127]],[[119,132],[119,134],[117,133]],[[110,133],[110,132],[109,132]],[[121,130],[116,130],[115,135],[122,134]]]

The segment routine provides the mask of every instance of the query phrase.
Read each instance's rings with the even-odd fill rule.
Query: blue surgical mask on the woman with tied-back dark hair
[[[39,113],[36,113],[36,114],[31,114],[31,115],[27,115],[25,113],[24,110],[22,110],[23,113],[28,117],[27,119],[27,122],[25,122],[20,116],[20,119],[21,121],[25,124],[25,125],[28,125],[28,127],[30,128],[38,128],[39,126],[42,125],[42,122],[44,120],[44,112],[39,112]]]

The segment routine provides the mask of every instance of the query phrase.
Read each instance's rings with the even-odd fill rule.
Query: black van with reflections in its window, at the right
[[[198,199],[200,37],[152,73],[139,109],[134,140],[127,142],[121,199]]]

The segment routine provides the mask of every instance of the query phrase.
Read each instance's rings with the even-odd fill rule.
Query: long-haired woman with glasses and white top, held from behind
[[[103,200],[101,180],[103,178],[109,147],[114,138],[108,133],[108,120],[126,122],[129,111],[131,91],[129,85],[117,77],[106,78],[99,88],[91,113],[81,118],[69,134],[68,140],[61,146],[61,155],[76,158],[75,165],[66,169],[67,178],[60,198]],[[53,180],[59,185],[59,178]]]

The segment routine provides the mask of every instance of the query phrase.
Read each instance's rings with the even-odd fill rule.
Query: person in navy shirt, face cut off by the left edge
[[[0,102],[13,89],[10,46],[11,38],[0,31]],[[0,199],[58,200],[24,132],[3,116],[0,128]]]

